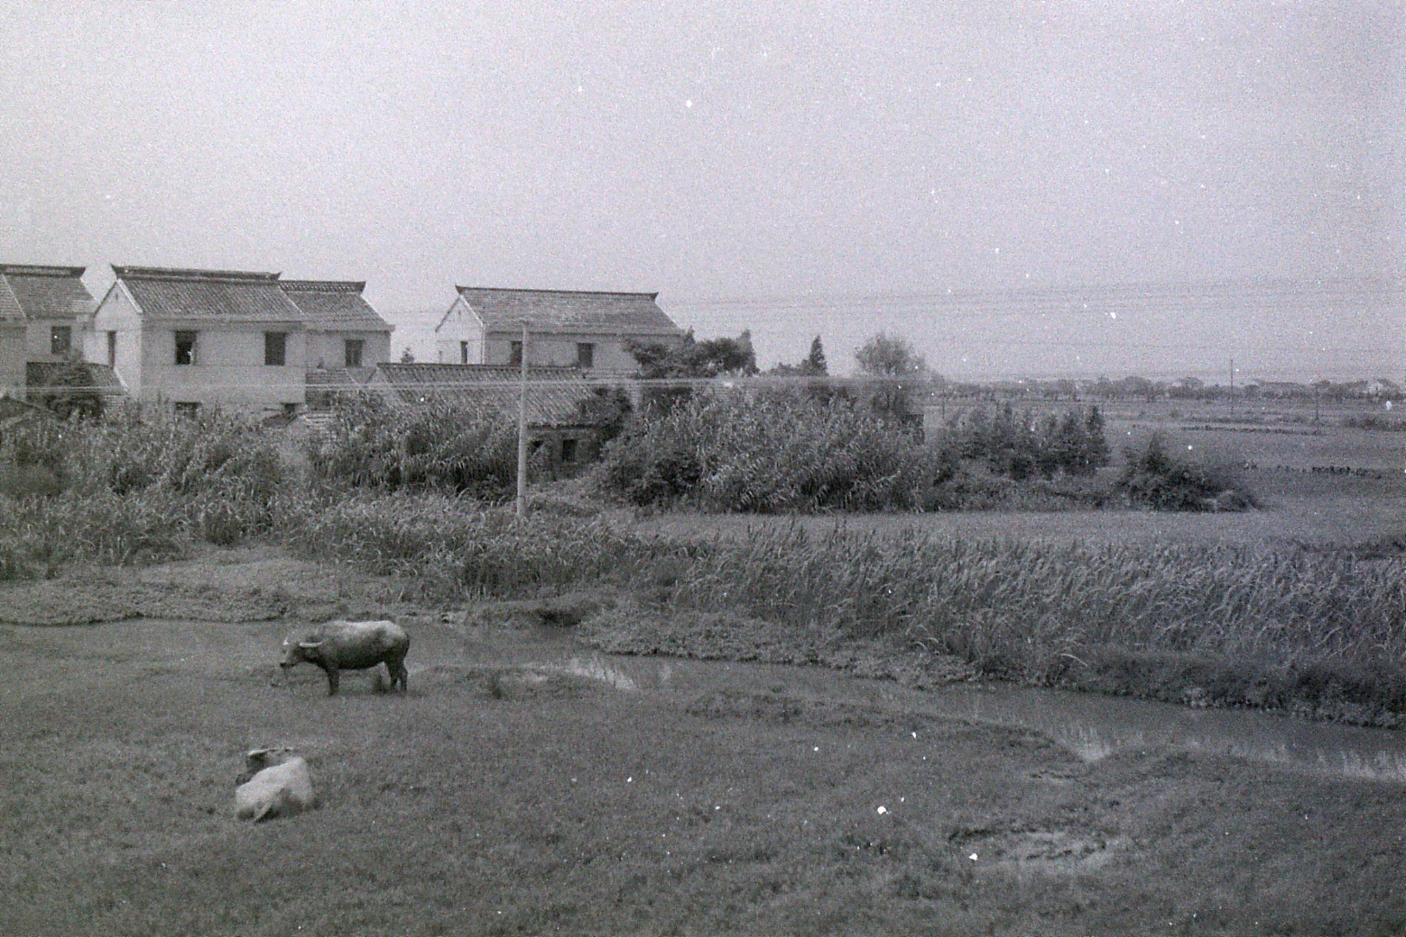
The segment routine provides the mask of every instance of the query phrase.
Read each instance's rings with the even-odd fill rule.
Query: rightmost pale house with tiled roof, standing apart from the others
[[[630,374],[630,341],[678,344],[682,330],[657,292],[486,289],[456,287],[454,303],[434,327],[440,364],[516,365],[527,326],[527,364],[589,374]]]

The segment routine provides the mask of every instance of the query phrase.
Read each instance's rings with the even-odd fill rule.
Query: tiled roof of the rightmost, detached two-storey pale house
[[[623,336],[676,336],[657,292],[575,292],[567,289],[482,289],[456,287],[484,326],[494,332],[583,332]],[[446,313],[446,317],[449,313]],[[443,320],[440,320],[443,325]]]

